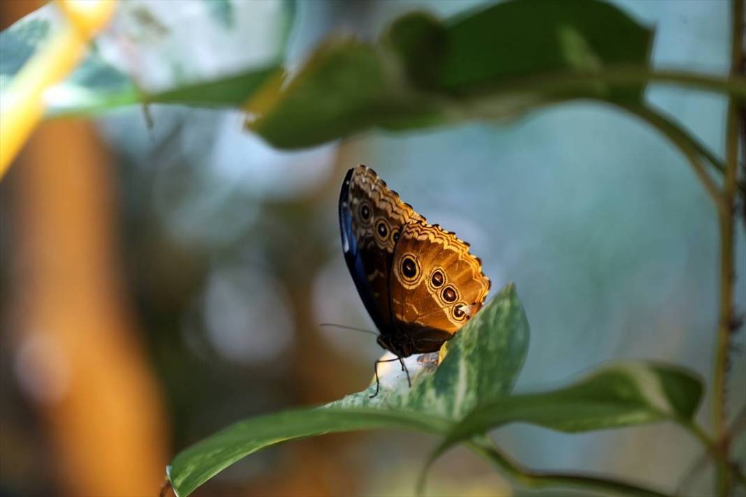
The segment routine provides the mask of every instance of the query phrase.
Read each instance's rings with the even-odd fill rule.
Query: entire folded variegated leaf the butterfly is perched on
[[[515,286],[507,285],[448,342],[433,373],[422,367],[412,388],[406,378],[374,385],[321,408],[245,420],[181,452],[168,474],[178,496],[187,496],[222,469],[268,446],[325,433],[406,429],[445,435],[480,399],[510,392],[523,364],[528,324]],[[416,363],[415,363],[416,364]]]

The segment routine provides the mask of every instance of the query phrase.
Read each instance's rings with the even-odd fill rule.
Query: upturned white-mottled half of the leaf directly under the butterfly
[[[479,402],[499,399],[513,390],[528,349],[529,329],[515,285],[506,285],[446,343],[448,354],[431,373],[416,376],[411,388],[382,389],[371,398],[367,390],[330,404],[333,407],[372,407],[463,417]]]

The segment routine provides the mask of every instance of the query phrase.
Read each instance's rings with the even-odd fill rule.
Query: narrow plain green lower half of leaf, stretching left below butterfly
[[[385,409],[301,409],[237,422],[179,453],[168,467],[178,497],[245,456],[289,440],[327,433],[404,429],[445,434],[451,423],[422,413]]]

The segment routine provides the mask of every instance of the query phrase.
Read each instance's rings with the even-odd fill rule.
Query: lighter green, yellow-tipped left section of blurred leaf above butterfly
[[[383,54],[354,39],[331,39],[295,76],[278,75],[245,107],[248,129],[280,148],[327,142],[369,127],[441,121],[433,103],[392,83]]]

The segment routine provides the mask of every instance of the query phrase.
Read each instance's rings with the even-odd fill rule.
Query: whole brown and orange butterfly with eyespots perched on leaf
[[[347,171],[342,182],[339,228],[377,343],[396,355],[402,370],[402,358],[438,351],[484,303],[489,278],[469,244],[427,223],[365,165]],[[380,362],[372,396],[380,387]]]

